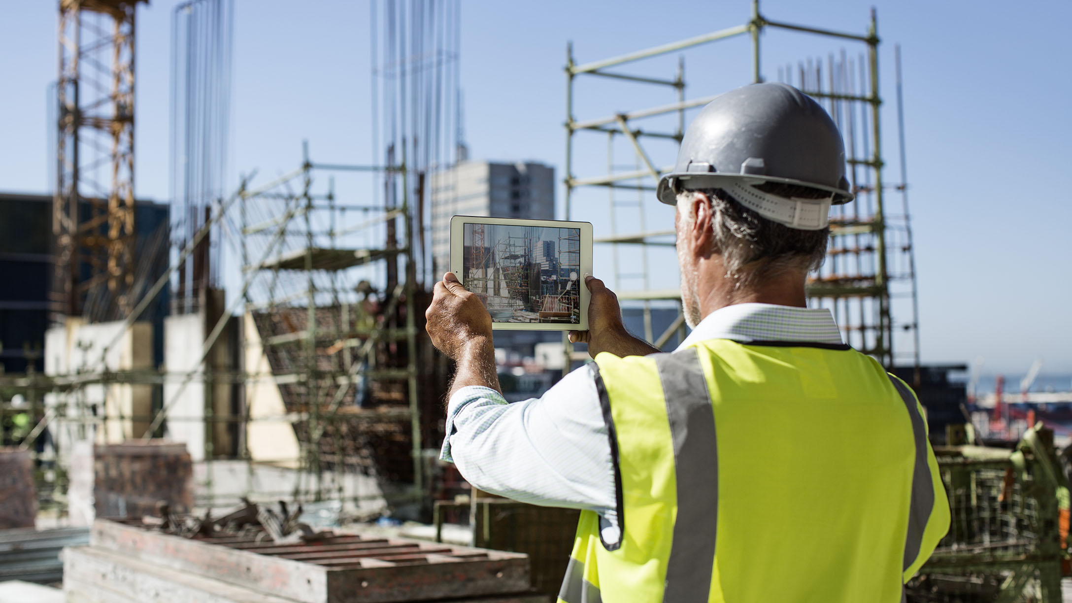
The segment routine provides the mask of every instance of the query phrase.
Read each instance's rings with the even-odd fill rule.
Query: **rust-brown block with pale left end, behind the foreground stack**
[[[193,506],[193,464],[187,445],[164,440],[74,446],[71,520],[152,515],[160,502],[176,513]],[[92,492],[91,495],[89,492]]]

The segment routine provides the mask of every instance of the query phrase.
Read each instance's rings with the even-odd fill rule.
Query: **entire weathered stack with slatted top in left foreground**
[[[547,603],[524,555],[361,534],[273,543],[266,534],[192,539],[140,521],[93,523],[63,551],[69,603]]]

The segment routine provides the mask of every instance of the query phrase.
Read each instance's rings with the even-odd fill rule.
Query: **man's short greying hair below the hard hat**
[[[830,193],[792,185],[765,182],[756,187],[781,196],[819,198]],[[726,276],[740,289],[757,280],[786,271],[818,270],[827,258],[830,226],[819,231],[790,229],[768,220],[733,200],[721,189],[685,190],[678,193],[678,210],[685,223],[695,220],[683,210],[696,193],[711,200],[712,253],[723,256]]]

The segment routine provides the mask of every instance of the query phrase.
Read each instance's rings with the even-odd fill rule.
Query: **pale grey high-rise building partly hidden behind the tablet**
[[[432,262],[450,265],[450,218],[554,219],[554,167],[542,163],[463,161],[432,174]]]

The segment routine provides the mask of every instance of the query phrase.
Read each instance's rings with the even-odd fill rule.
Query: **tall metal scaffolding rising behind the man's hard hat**
[[[874,356],[885,367],[893,367],[905,359],[910,359],[918,366],[917,338],[910,338],[906,351],[898,349],[896,355],[893,345],[895,332],[914,333],[917,329],[915,281],[905,185],[902,182],[891,187],[884,182],[882,175],[884,161],[879,127],[879,109],[882,104],[878,76],[879,39],[874,11],[867,32],[857,34],[772,20],[760,13],[759,2],[754,0],[753,17],[748,23],[709,34],[586,63],[576,62],[572,48],[567,48],[566,219],[578,219],[577,195],[582,189],[602,187],[608,191],[609,232],[597,233],[595,242],[610,247],[613,285],[619,298],[643,304],[643,335],[657,347],[666,344],[675,333],[681,335],[684,317],[680,312],[678,319],[661,334],[652,330],[651,305],[658,300],[678,300],[680,309],[681,294],[676,289],[652,286],[651,266],[657,263],[650,255],[653,252],[665,253],[674,244],[672,230],[647,230],[645,208],[649,203],[655,204],[652,193],[659,177],[672,168],[669,162],[681,143],[686,112],[702,107],[717,94],[687,98],[683,60],[679,60],[675,72],[668,77],[652,76],[651,70],[638,69],[636,73],[626,73],[613,68],[747,35],[751,42],[751,82],[762,82],[760,34],[768,29],[812,34],[836,42],[862,44],[864,47],[866,60],[863,57],[859,60],[848,59],[844,49],[840,50],[838,60],[831,55],[827,61],[825,77],[822,74],[822,60],[808,60],[796,70],[778,68],[779,79],[794,84],[816,98],[838,124],[846,139],[849,177],[857,194],[854,203],[838,206],[831,216],[831,242],[827,262],[809,279],[807,293],[809,305],[827,307],[833,311],[845,340],[858,350]],[[795,80],[794,73],[798,74]],[[604,85],[613,82],[617,86],[655,87],[668,90],[673,101],[650,108],[617,111],[601,118],[579,118],[575,115],[575,104],[578,104],[579,98],[575,88],[579,79],[600,80]],[[582,106],[593,104],[591,92],[589,94]],[[620,99],[622,94],[607,97]],[[575,147],[582,142],[582,137],[592,138],[593,134],[607,139],[606,173],[578,174],[579,161]],[[619,141],[628,143],[627,155],[630,157],[624,164],[616,162],[614,158],[615,142]],[[903,137],[900,142],[903,147]],[[652,148],[656,146],[660,147],[653,152]],[[649,178],[651,179],[647,180]],[[885,193],[891,188],[905,194],[904,215],[894,216],[889,210]],[[619,231],[621,224],[635,222],[639,222],[639,232],[623,234]],[[623,266],[635,266],[638,269],[624,270]],[[892,296],[912,300],[912,318],[897,324],[896,327],[899,328],[895,328],[893,321]],[[564,344],[570,350],[565,339]],[[583,357],[583,354],[567,352],[567,358],[572,361]]]

